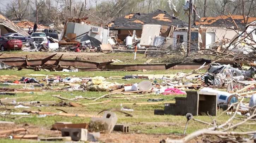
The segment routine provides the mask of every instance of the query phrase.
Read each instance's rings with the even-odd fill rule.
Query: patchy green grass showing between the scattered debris
[[[19,52],[15,53],[18,54]],[[29,53],[23,53],[23,54],[29,54]],[[34,54],[34,53],[33,53]],[[35,53],[36,54],[36,53]],[[49,53],[47,53],[49,54]],[[30,53],[31,55],[31,53]],[[119,57],[121,56],[131,56],[131,54],[117,54]],[[42,55],[41,55],[42,56]],[[107,57],[114,57],[116,54],[107,54]],[[143,55],[139,55],[139,57],[142,57],[143,60],[139,61],[138,63],[143,63],[148,58],[143,57]],[[124,60],[124,59],[119,59]],[[130,64],[130,63],[129,63]],[[189,72],[190,70],[184,70],[183,72]],[[133,72],[125,72],[125,71],[87,71],[87,72],[47,72],[47,71],[32,71],[32,70],[26,70],[23,69],[21,71],[16,70],[1,70],[0,75],[14,75],[17,76],[17,79],[20,79],[22,77],[31,77],[26,74],[45,74],[45,75],[53,75],[53,76],[61,76],[64,77],[95,77],[95,76],[102,76],[105,77],[108,82],[118,82],[118,83],[125,83],[125,84],[132,84],[132,83],[138,83],[143,81],[144,79],[121,79],[125,75],[131,75],[131,74],[175,74],[180,71],[177,70],[165,70],[165,71],[133,71]],[[35,77],[34,78],[38,80],[42,80],[42,78],[45,77]],[[154,80],[149,80],[153,82]],[[156,80],[157,83],[161,84],[162,80]],[[42,83],[42,82],[40,82]],[[24,85],[23,85],[24,86]],[[23,87],[21,85],[4,85],[0,84],[0,88],[19,88],[22,89]],[[29,85],[26,86],[27,88],[31,88]],[[55,86],[52,88],[58,88],[62,86]],[[34,87],[35,89],[40,87]],[[23,101],[56,101],[56,103],[59,103],[61,100],[55,97],[52,97],[52,95],[61,95],[65,98],[74,98],[75,96],[83,96],[83,97],[100,97],[108,92],[83,92],[83,91],[56,91],[56,92],[43,92],[43,93],[36,93],[36,92],[30,92],[30,93],[16,93],[14,96],[10,95],[0,95],[1,98],[13,98],[13,97],[25,97],[25,96],[32,96],[29,98],[18,98],[17,102],[23,102]],[[113,95],[113,96],[123,96],[123,95]],[[112,96],[112,97],[113,97]],[[164,102],[170,102],[174,103],[174,97],[185,97],[185,95],[176,95],[176,96],[164,96],[164,95],[144,95],[144,96],[138,96],[130,99],[122,99],[122,98],[102,98],[97,100],[97,102],[102,102],[105,100],[111,100],[111,102],[107,104],[95,104],[95,105],[85,105],[82,108],[76,108],[76,107],[60,107],[60,106],[49,106],[44,105],[41,107],[36,106],[30,106],[29,109],[22,109],[17,108],[14,109],[14,106],[6,105],[6,106],[0,106],[0,112],[5,111],[6,109],[10,109],[13,112],[22,112],[23,110],[31,110],[31,111],[37,111],[41,110],[43,112],[60,112],[56,109],[64,110],[68,113],[81,113],[85,115],[97,115],[98,112],[104,110],[104,109],[120,109],[120,104],[124,103],[139,103],[139,102],[147,102],[148,99],[153,98],[163,98],[165,99]],[[68,102],[68,101],[65,101]],[[84,103],[94,103],[92,100],[87,99],[81,99],[77,101],[81,104]],[[183,134],[183,130],[186,123],[185,116],[173,116],[173,115],[154,115],[155,109],[163,109],[163,104],[158,105],[123,105],[125,108],[133,109],[134,111],[126,111],[128,113],[131,113],[133,117],[126,117],[124,114],[118,113],[118,123],[125,123],[130,126],[130,132],[134,134],[148,134],[149,136],[151,134]],[[218,109],[218,114],[222,112],[221,109]],[[102,114],[101,114],[102,115]],[[202,116],[196,116],[196,119],[200,119],[205,122],[212,122],[212,119],[209,118],[207,115]],[[215,117],[213,117],[215,118]],[[224,123],[230,118],[230,115],[224,114],[223,116],[218,117],[216,119],[217,123]],[[54,124],[57,121],[66,121],[66,122],[72,122],[72,123],[88,123],[90,121],[90,118],[84,118],[84,117],[63,117],[63,116],[46,116],[39,118],[36,114],[31,114],[29,117],[22,117],[22,116],[16,116],[16,115],[1,115],[0,121],[13,121],[17,126],[24,126],[24,124],[28,124],[27,127],[28,132],[30,134],[38,134],[39,136],[43,137],[50,137],[53,133],[48,131],[50,130],[52,124]],[[163,124],[161,122],[165,122],[167,124]],[[232,123],[236,123],[238,120],[234,120]],[[252,121],[250,121],[252,122]],[[191,121],[189,123],[189,126],[187,128],[187,133],[194,132],[199,129],[206,128],[208,125],[202,124],[199,122]],[[256,125],[246,125],[244,126],[248,129],[256,129]],[[6,127],[7,128],[7,127]],[[4,126],[0,126],[1,129],[6,129]],[[34,130],[30,130],[33,128]],[[54,133],[55,136],[60,136],[60,133]],[[120,134],[122,135],[122,134]],[[177,135],[178,136],[178,135]],[[159,141],[162,138],[159,138]],[[23,143],[22,141],[12,141],[10,139],[0,139],[1,143]],[[26,141],[24,141],[25,143]]]

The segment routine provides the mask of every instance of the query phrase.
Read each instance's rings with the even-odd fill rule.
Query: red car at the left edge
[[[0,48],[1,51],[20,50],[22,48],[22,41],[10,37],[0,37]]]

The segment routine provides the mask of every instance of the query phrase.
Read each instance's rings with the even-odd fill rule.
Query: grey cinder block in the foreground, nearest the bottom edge
[[[87,141],[87,129],[62,128],[62,137],[70,136],[72,141]]]

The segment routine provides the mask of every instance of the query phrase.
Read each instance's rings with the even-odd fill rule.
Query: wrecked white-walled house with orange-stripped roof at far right
[[[195,26],[200,27],[202,47],[209,48],[213,43],[223,39],[230,41],[237,35],[239,29],[243,30],[246,25],[256,21],[256,17],[244,19],[243,15],[231,16],[203,17],[194,23]]]

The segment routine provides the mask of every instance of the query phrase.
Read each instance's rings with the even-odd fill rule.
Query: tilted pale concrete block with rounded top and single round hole
[[[93,117],[89,123],[90,131],[111,133],[117,123],[117,115],[114,112],[105,112],[101,118]]]

